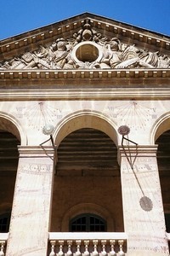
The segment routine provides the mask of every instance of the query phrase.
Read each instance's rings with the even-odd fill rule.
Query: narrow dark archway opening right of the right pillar
[[[165,125],[162,126],[165,127]],[[170,127],[169,130],[163,131],[161,135],[156,139],[156,144],[158,144],[157,163],[166,220],[166,230],[168,233],[170,233]]]

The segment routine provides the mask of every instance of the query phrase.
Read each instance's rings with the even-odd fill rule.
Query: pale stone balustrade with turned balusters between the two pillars
[[[124,256],[125,233],[49,233],[48,256]]]

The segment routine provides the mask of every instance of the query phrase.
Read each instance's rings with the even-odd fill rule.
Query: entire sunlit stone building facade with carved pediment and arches
[[[88,13],[0,42],[0,255],[169,255],[169,49]]]

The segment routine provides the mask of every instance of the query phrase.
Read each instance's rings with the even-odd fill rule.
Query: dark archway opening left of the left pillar
[[[0,229],[8,232],[18,167],[20,132],[8,119],[0,118]]]

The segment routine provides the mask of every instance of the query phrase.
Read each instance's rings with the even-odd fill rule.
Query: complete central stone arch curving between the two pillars
[[[82,128],[93,128],[105,132],[112,141],[117,143],[116,124],[106,115],[91,110],[77,111],[71,113],[59,122],[54,131],[54,142],[57,146],[72,131]]]

